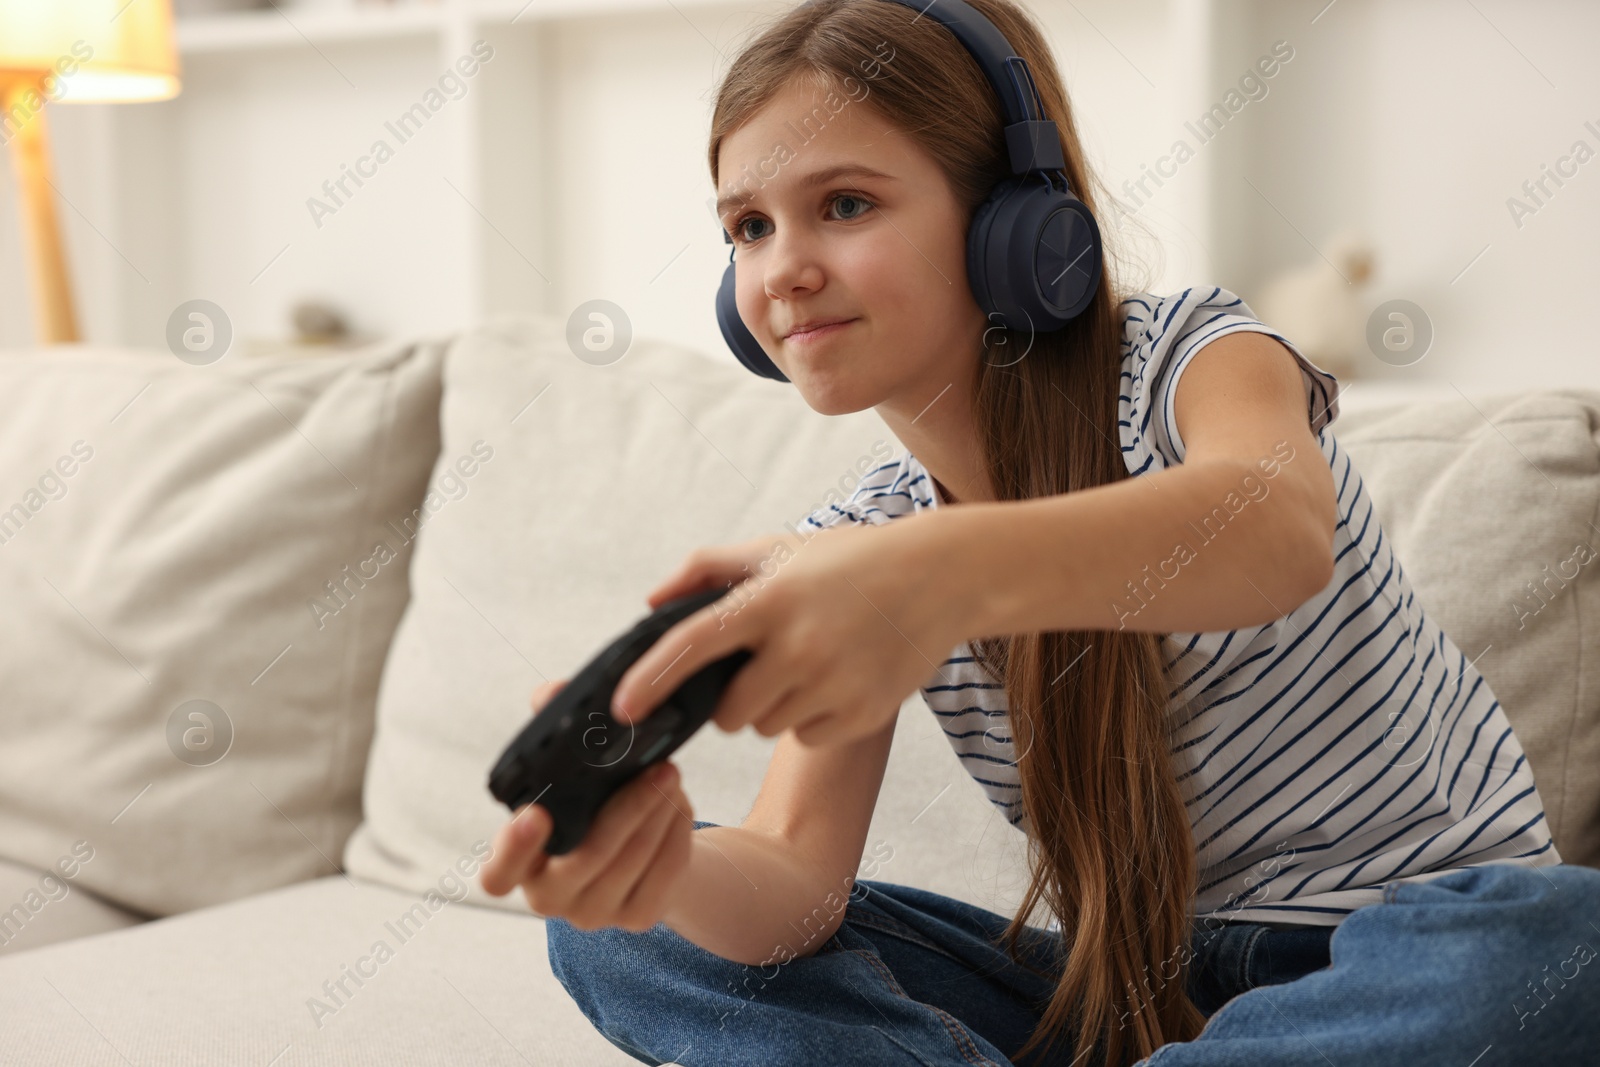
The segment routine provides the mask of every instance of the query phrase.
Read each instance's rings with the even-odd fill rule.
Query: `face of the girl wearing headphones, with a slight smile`
[[[870,106],[795,80],[720,146],[718,216],[738,306],[822,414],[917,414],[976,374],[984,314],[944,173]],[[842,322],[816,331],[816,322]],[[885,410],[885,406],[888,410]]]

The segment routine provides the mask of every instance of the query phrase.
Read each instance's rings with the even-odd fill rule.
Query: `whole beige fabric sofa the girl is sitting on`
[[[1342,408],[1562,856],[1600,864],[1600,394]],[[581,362],[558,320],[0,358],[0,1061],[634,1062],[477,886],[490,763],[690,549],[848,494],[880,442],[699,352]],[[902,712],[862,877],[1010,912],[1021,835]],[[696,817],[738,822],[771,744],[696,736]]]

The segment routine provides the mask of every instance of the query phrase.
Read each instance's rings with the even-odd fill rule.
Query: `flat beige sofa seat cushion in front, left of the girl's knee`
[[[3,957],[3,1059],[635,1064],[550,973],[541,920],[462,907],[454,885],[429,901],[317,878]]]

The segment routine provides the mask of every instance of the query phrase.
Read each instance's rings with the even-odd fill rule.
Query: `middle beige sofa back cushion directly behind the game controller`
[[[792,387],[694,350],[635,341],[618,363],[586,363],[560,320],[504,320],[451,346],[442,432],[438,470],[469,488],[418,541],[346,851],[350,872],[416,891],[509,817],[488,773],[539,681],[571,677],[646,614],[645,593],[693,549],[798,523],[901,451],[870,410],[822,418]],[[882,870],[862,877],[1010,913],[1022,835],[920,694],[901,718],[869,830]],[[715,726],[691,737],[674,761],[696,817],[741,822],[774,744]],[[528,910],[518,893],[474,885],[470,899]]]

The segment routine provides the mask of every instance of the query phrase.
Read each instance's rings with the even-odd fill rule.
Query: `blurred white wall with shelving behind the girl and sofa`
[[[682,2],[488,26],[496,59],[469,96],[320,229],[306,198],[470,40],[328,42],[318,45],[326,59],[294,43],[192,54],[184,93],[170,104],[54,109],[85,333],[160,344],[166,314],[194,296],[218,301],[242,336],[256,338],[283,336],[288,304],[307,294],[392,334],[453,330],[498,310],[565,315],[603,298],[627,310],[635,333],[731,358],[712,315],[728,258],[706,210],[706,134],[720,72],[784,6]],[[1587,54],[1600,40],[1595,5],[1030,8],[1112,192],[1176,138],[1194,142],[1184,122],[1219,101],[1274,40],[1296,50],[1269,94],[1138,208],[1123,235],[1150,272],[1136,282],[1155,291],[1216,283],[1253,301],[1275,272],[1315,262],[1314,243],[1357,226],[1374,240],[1379,267],[1362,299],[1413,299],[1437,330],[1426,360],[1373,360],[1379,376],[1507,389],[1531,376],[1600,382],[1595,346],[1566,325],[1600,277],[1600,160],[1520,229],[1506,208],[1576,139],[1600,150],[1600,136],[1584,128],[1600,128],[1600,72]],[[32,334],[13,200],[6,173],[6,347]],[[1560,320],[1534,323],[1547,309]]]

